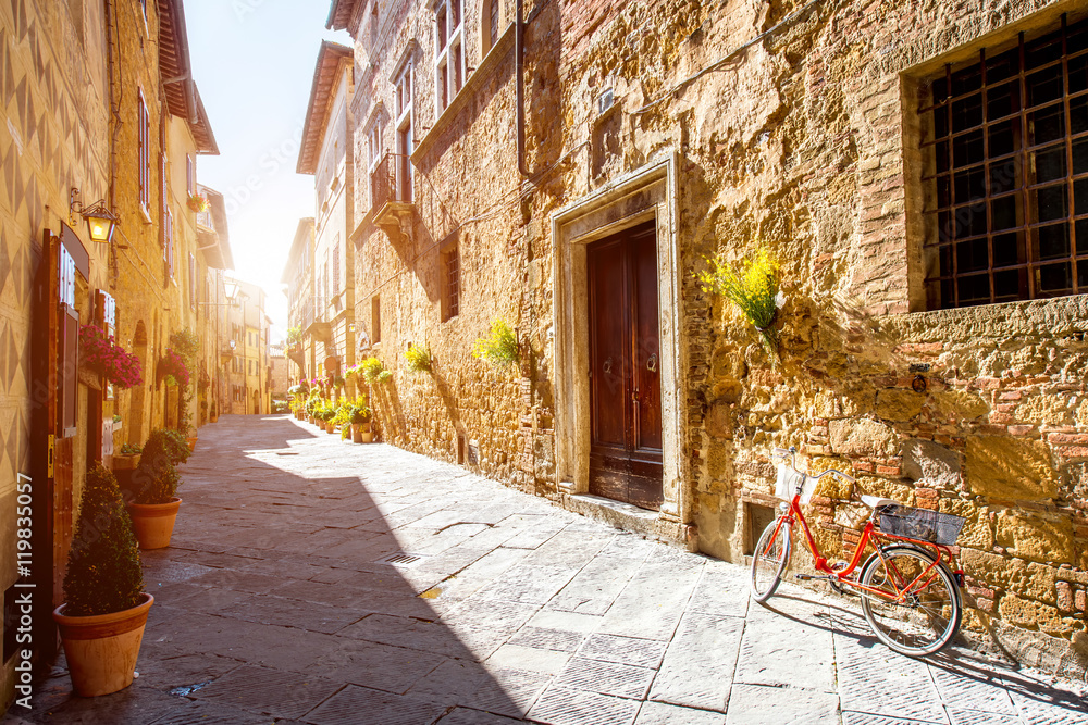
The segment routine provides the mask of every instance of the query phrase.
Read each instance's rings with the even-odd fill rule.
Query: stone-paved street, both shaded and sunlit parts
[[[625,534],[385,445],[225,416],[183,468],[120,693],[33,723],[1088,723],[1081,690],[876,643],[856,600]],[[405,552],[412,561],[386,562]]]

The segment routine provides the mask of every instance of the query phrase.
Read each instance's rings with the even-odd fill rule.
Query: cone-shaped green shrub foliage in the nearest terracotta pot
[[[92,616],[136,607],[144,591],[139,548],[118,479],[101,463],[87,472],[64,575],[64,614]]]

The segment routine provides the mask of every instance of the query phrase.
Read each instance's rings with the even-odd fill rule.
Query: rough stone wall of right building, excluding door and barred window
[[[1077,3],[536,2],[528,180],[514,153],[512,53],[481,62],[456,113],[435,117],[433,13],[403,8],[385,45],[357,48],[376,64],[357,77],[360,123],[367,103],[388,104],[390,65],[410,38],[424,72],[410,233],[380,228],[360,202],[355,238],[357,318],[373,323],[379,296],[373,352],[394,370],[374,396],[387,440],[446,460],[460,460],[459,437],[475,440],[478,463],[466,464],[556,496],[554,426],[567,414],[556,399],[578,372],[557,354],[573,313],[556,287],[567,242],[553,230],[667,164],[675,192],[662,203],[675,217],[662,226],[655,213],[676,259],[676,301],[663,309],[678,321],[669,515],[690,527],[670,530],[743,561],[772,503],[768,451],[798,446],[814,470],[853,472],[858,492],[966,517],[965,628],[1026,662],[1084,670],[1088,298],[924,311],[914,112],[944,63],[1052,29]],[[356,149],[366,158],[360,128]],[[441,251],[455,239],[463,302],[443,321]],[[777,361],[695,279],[708,255],[738,259],[757,241],[781,263]],[[469,357],[496,314],[519,329],[520,370]],[[432,374],[404,371],[408,342],[431,349]],[[818,491],[812,511],[832,555],[856,540],[865,511],[849,491]]]

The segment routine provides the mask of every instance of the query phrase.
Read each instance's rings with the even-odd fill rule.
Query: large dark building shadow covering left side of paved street
[[[333,436],[282,416],[223,416],[201,434],[182,467],[172,545],[144,552],[156,604],[138,679],[78,698],[61,660],[23,717],[418,725],[524,714],[480,664],[502,633],[471,618],[455,632],[418,596],[463,567],[463,555],[437,545],[418,563],[383,563],[400,552],[386,516],[416,505],[409,493],[379,507],[360,477],[335,475],[342,449],[316,440]],[[305,477],[275,465],[308,447],[313,458],[314,445],[318,465]]]

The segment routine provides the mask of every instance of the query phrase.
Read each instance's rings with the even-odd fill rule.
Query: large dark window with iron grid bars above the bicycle
[[[929,309],[1088,292],[1088,21],[919,90]]]

